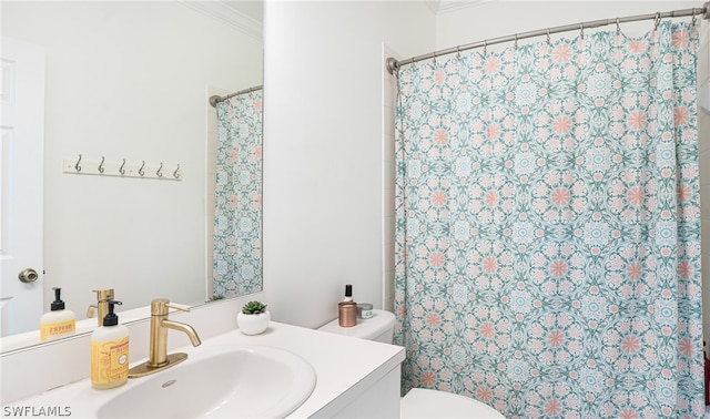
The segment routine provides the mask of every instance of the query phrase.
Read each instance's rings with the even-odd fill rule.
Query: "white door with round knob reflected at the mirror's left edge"
[[[0,336],[7,336],[38,329],[43,311],[44,50],[7,37],[0,42]]]

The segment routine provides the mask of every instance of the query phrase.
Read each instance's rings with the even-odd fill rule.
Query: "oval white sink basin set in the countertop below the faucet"
[[[284,349],[199,347],[182,364],[109,390],[115,396],[97,416],[283,418],[311,396],[315,381],[311,364]]]

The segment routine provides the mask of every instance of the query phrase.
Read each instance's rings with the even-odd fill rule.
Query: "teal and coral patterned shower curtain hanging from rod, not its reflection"
[[[697,29],[398,73],[404,391],[507,418],[700,418]]]

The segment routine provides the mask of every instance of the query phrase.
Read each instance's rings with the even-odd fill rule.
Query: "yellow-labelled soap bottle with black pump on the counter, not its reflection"
[[[99,390],[119,387],[129,379],[129,328],[119,325],[114,305],[109,300],[109,313],[103,326],[91,334],[91,385]]]

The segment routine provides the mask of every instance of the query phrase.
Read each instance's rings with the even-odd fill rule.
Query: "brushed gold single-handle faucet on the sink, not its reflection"
[[[148,376],[187,359],[187,354],[184,352],[168,355],[168,329],[180,330],[187,335],[192,346],[202,344],[192,326],[168,319],[169,308],[190,311],[187,307],[170,304],[166,298],[158,298],[151,302],[151,346],[149,358],[148,361],[131,368],[129,378]]]

